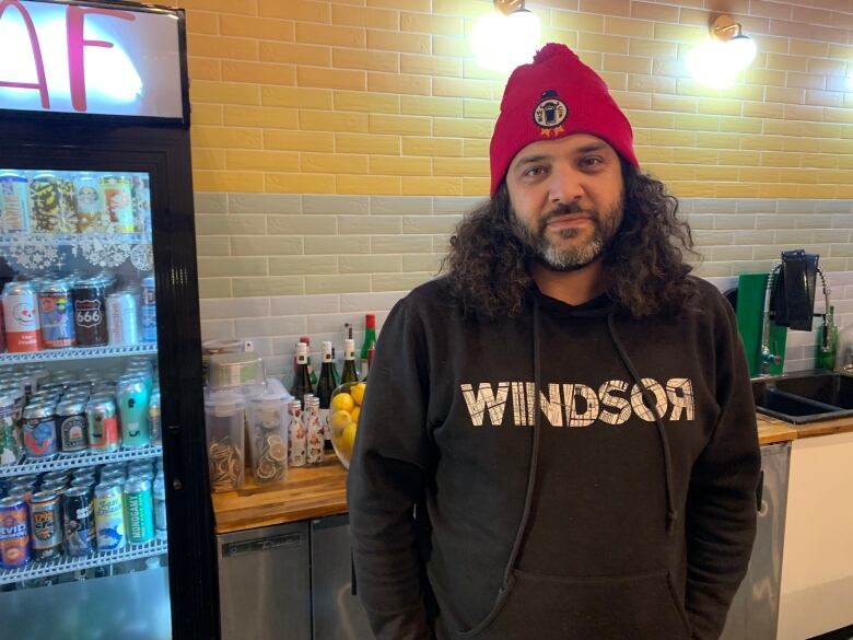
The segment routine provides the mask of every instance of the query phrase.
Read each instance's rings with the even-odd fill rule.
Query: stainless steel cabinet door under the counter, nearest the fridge
[[[222,640],[311,640],[308,523],[218,536]]]

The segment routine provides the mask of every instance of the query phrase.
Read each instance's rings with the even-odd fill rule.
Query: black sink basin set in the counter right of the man
[[[853,416],[853,376],[838,372],[805,372],[752,380],[759,414],[794,424]]]

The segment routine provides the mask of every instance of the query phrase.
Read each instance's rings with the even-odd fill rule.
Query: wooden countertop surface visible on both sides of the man
[[[796,426],[758,415],[760,444],[845,431],[853,431],[853,418]],[[329,453],[320,465],[289,469],[288,480],[277,487],[258,487],[247,470],[244,489],[211,499],[218,534],[346,513],[347,469]]]

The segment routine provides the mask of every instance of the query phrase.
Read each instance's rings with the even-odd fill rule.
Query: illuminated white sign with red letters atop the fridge
[[[0,0],[0,109],[183,118],[178,16]]]

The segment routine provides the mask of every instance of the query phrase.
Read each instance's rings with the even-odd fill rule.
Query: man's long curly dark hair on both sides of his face
[[[679,316],[696,294],[685,253],[693,251],[690,226],[680,220],[678,200],[666,187],[620,159],[624,214],[601,259],[607,293],[631,316]],[[494,318],[521,313],[533,284],[529,249],[513,230],[504,181],[494,196],[471,211],[451,236],[442,263],[451,290],[467,312]]]

